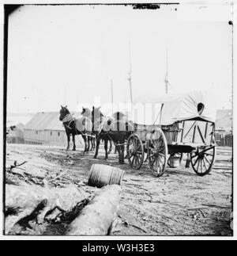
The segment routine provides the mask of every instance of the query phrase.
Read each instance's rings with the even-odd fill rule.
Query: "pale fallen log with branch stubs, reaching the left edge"
[[[5,234],[20,220],[36,215],[38,224],[43,223],[47,213],[55,209],[69,212],[84,201],[88,193],[74,185],[66,188],[43,188],[39,185],[6,185]]]

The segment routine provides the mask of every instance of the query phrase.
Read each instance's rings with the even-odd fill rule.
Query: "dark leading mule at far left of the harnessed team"
[[[87,117],[75,119],[66,107],[61,105],[59,120],[64,125],[67,136],[67,148],[70,150],[70,136],[73,136],[73,151],[76,151],[75,136],[81,135],[85,142],[84,153],[88,153],[92,136],[92,121]]]

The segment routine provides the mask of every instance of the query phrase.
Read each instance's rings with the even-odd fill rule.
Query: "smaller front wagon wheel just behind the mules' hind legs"
[[[126,144],[126,155],[130,166],[140,169],[144,161],[144,147],[141,139],[136,134],[130,135]]]

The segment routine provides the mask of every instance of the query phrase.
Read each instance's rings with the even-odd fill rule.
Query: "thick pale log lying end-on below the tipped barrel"
[[[119,211],[120,190],[119,185],[101,189],[73,220],[66,235],[107,235]]]

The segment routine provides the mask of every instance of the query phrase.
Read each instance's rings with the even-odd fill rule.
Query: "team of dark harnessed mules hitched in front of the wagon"
[[[113,117],[105,117],[100,108],[82,108],[81,117],[75,118],[67,106],[61,106],[59,120],[62,121],[66,130],[67,150],[70,149],[70,136],[73,137],[73,151],[76,150],[75,136],[81,135],[85,142],[85,151],[96,149],[96,159],[100,147],[100,141],[104,142],[105,159],[111,152],[112,143],[119,153],[119,163],[124,163],[124,151],[126,139],[133,132],[133,126],[124,118],[122,113],[115,113]],[[110,149],[108,151],[108,142]]]

